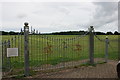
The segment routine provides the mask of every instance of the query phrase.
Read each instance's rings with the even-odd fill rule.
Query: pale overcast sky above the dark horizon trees
[[[117,2],[2,2],[0,26],[20,31],[24,22],[40,32],[118,31]]]

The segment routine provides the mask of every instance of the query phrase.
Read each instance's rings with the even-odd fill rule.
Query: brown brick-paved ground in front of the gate
[[[108,63],[78,68],[63,69],[57,72],[38,73],[34,78],[117,78],[117,61],[109,60]]]

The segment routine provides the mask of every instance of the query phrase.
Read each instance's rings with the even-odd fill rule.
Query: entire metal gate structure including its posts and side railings
[[[18,55],[8,56],[10,48],[17,49]],[[30,31],[25,23],[24,30],[21,29],[17,35],[4,35],[2,73],[3,76],[28,76],[32,70],[75,67],[88,62],[94,64],[94,57],[107,62],[108,40],[97,36],[93,27],[81,35],[53,35],[41,34],[32,28]]]

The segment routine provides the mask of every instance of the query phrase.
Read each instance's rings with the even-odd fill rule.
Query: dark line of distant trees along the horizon
[[[0,33],[2,35],[18,35],[18,34],[24,34],[24,32],[14,32],[14,31],[10,31],[10,32],[6,32],[6,31],[0,31]],[[53,32],[53,33],[44,33],[44,35],[83,35],[87,33],[87,31],[66,31],[66,32]],[[38,34],[38,32],[33,32],[30,34]],[[40,34],[40,33],[39,33]],[[42,33],[41,33],[42,34]],[[115,32],[94,32],[94,34],[96,35],[120,35],[119,32],[115,31]]]

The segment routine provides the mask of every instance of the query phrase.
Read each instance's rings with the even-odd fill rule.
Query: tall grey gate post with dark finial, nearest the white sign
[[[24,23],[24,67],[25,76],[29,76],[29,26],[28,23]]]

